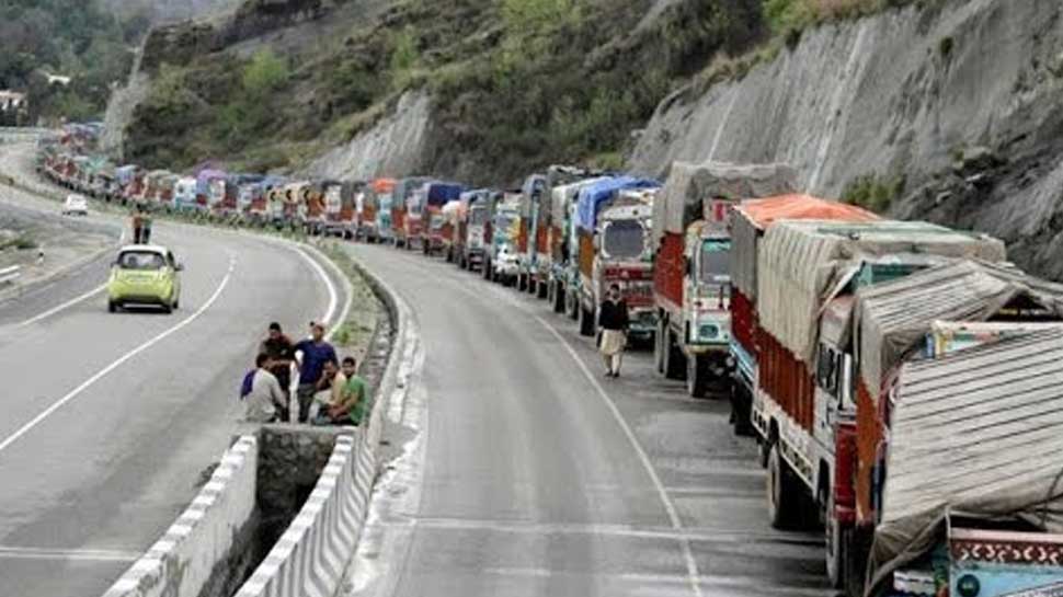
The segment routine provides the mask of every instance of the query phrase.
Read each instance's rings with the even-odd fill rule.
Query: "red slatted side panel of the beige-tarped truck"
[[[761,387],[782,412],[811,434],[815,405],[812,375],[803,363],[763,329],[757,344],[761,348]]]

